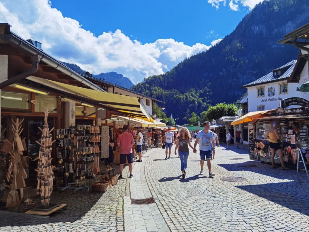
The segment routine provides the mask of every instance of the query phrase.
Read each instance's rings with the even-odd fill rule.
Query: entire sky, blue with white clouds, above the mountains
[[[60,61],[138,83],[218,44],[260,1],[0,0],[0,21]]]

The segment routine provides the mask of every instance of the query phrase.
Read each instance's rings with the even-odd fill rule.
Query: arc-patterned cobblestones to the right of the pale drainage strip
[[[249,161],[245,149],[216,151],[214,178],[208,177],[206,165],[205,175],[198,175],[199,155],[190,152],[185,179],[175,155],[164,160],[163,149],[151,151],[146,180],[171,231],[309,231],[309,180],[304,173],[296,177],[295,170]],[[257,167],[240,167],[250,164]],[[229,176],[248,181],[220,180]]]

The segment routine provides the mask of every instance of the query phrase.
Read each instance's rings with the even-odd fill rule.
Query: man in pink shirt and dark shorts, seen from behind
[[[133,150],[132,146],[134,145],[133,136],[128,133],[128,125],[124,125],[122,127],[123,133],[119,135],[117,144],[120,146],[120,175],[118,178],[122,178],[122,170],[123,165],[126,163],[126,158],[128,158],[129,164],[129,171],[130,171],[130,178],[133,177],[132,175],[132,164],[133,164]]]

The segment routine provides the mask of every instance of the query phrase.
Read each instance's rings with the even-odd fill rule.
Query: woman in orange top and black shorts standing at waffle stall
[[[271,158],[270,158],[271,168],[278,168],[278,166],[275,166],[275,162],[274,162],[276,151],[278,151],[282,169],[288,170],[289,168],[287,168],[284,165],[282,149],[281,149],[281,146],[279,144],[280,137],[279,137],[279,134],[278,134],[278,130],[276,128],[274,128],[275,125],[276,125],[276,120],[273,121],[273,123],[271,123],[271,128],[266,133],[266,138],[269,139],[269,146],[270,146],[270,150],[271,150]]]

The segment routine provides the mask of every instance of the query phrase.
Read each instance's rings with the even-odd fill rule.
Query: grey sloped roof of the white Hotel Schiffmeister
[[[253,85],[259,85],[261,83],[268,83],[268,82],[274,82],[274,81],[278,81],[278,80],[284,80],[284,79],[288,79],[290,77],[290,75],[292,74],[294,67],[296,64],[296,60],[292,60],[288,63],[286,63],[285,65],[275,68],[274,70],[278,70],[278,69],[282,69],[285,67],[289,67],[284,73],[282,73],[280,76],[278,77],[274,77],[273,76],[273,71],[269,72],[268,74],[266,74],[265,76],[262,76],[261,78],[250,82],[249,84],[245,84],[242,87],[249,87],[249,86],[253,86]]]

